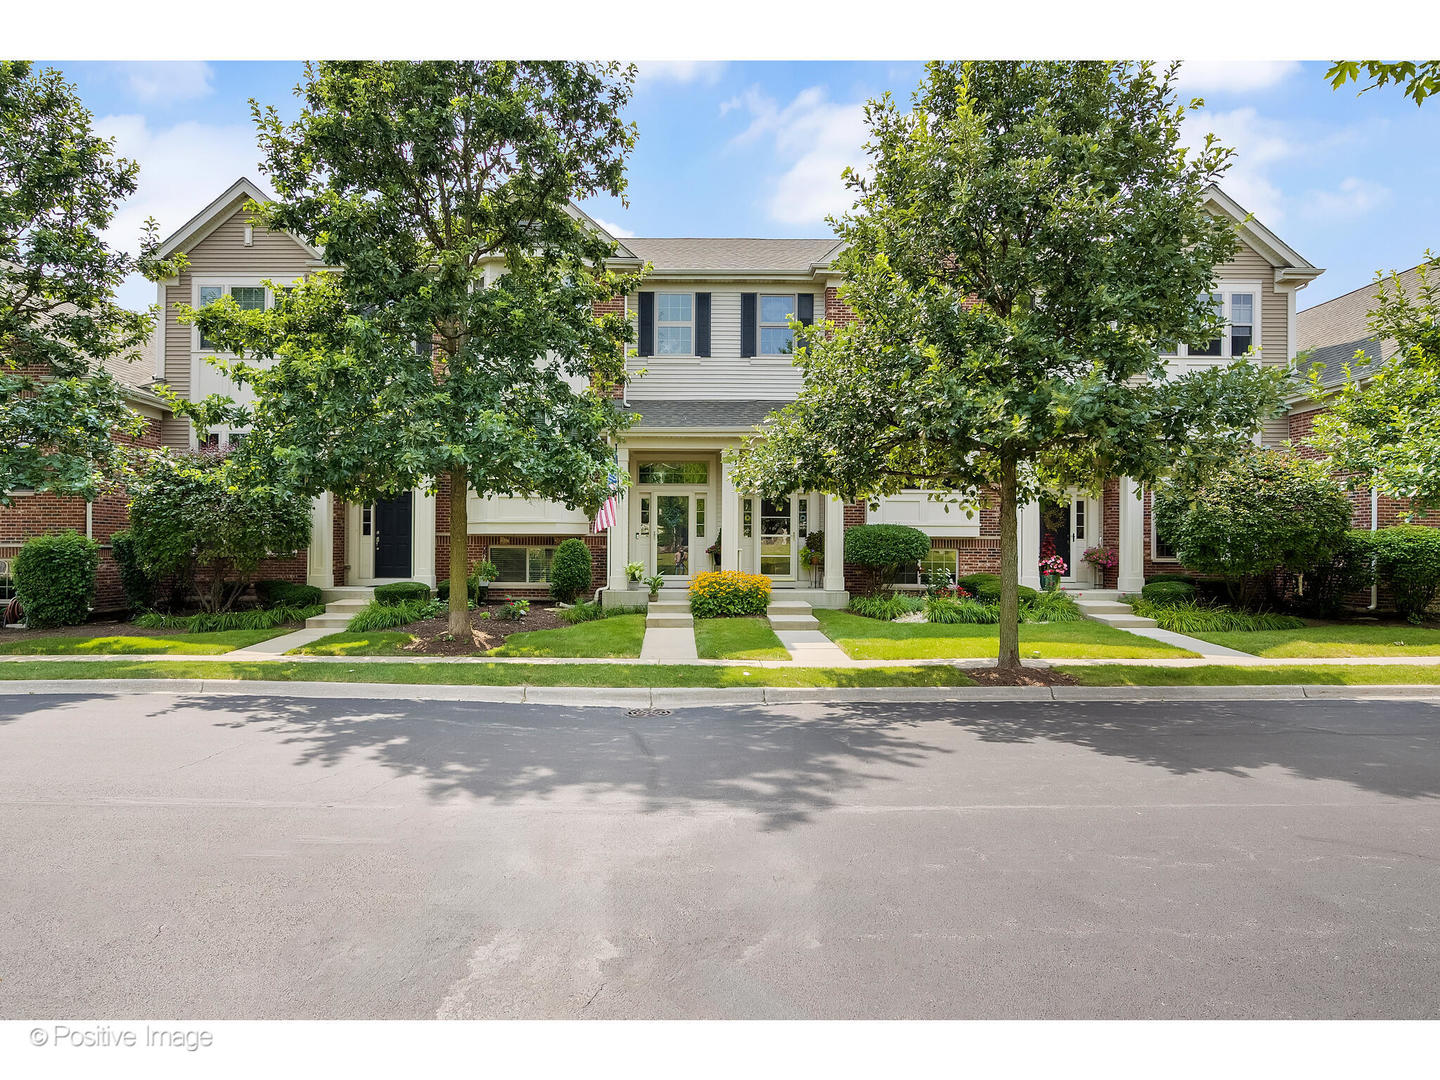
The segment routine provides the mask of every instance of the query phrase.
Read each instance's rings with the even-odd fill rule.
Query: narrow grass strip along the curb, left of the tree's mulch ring
[[[0,681],[86,678],[275,680],[557,687],[968,687],[950,667],[744,668],[693,664],[315,664],[243,660],[56,660],[0,664]]]

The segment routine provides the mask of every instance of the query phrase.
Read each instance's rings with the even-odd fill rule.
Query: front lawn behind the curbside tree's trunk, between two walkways
[[[815,612],[819,628],[855,660],[971,660],[999,652],[999,626],[878,622],[844,611]],[[1021,624],[1020,655],[1041,658],[1151,658],[1197,654],[1099,622]]]

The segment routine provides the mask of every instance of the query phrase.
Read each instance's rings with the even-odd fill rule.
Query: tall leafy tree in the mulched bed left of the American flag
[[[310,494],[448,480],[454,634],[471,631],[467,492],[609,494],[629,324],[593,305],[639,278],[605,269],[613,245],[570,203],[622,194],[632,82],[613,63],[320,63],[294,124],[253,105],[276,192],[259,220],[343,271],[269,312],[193,312],[256,402],[192,415],[253,422],[242,456]]]

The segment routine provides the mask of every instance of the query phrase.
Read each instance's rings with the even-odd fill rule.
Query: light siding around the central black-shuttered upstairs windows
[[[644,400],[739,400],[793,397],[801,389],[801,370],[783,357],[740,356],[742,292],[809,292],[815,297],[815,318],[825,317],[825,289],[816,285],[776,282],[687,281],[652,282],[654,292],[710,294],[710,356],[631,357],[628,369],[645,374],[629,386],[634,402]],[[639,310],[639,300],[629,298],[629,311]]]

